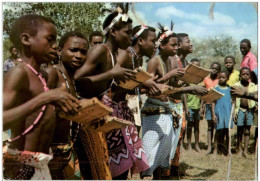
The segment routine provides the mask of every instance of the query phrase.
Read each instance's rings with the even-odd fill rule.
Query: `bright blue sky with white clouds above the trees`
[[[143,23],[158,27],[160,22],[173,31],[188,33],[190,37],[207,38],[221,34],[230,35],[236,41],[248,38],[257,45],[257,12],[251,3],[216,2],[214,19],[209,17],[210,2],[137,2],[135,11]],[[132,18],[131,12],[129,16]],[[133,18],[135,19],[135,18]],[[134,20],[133,25],[141,24]]]

